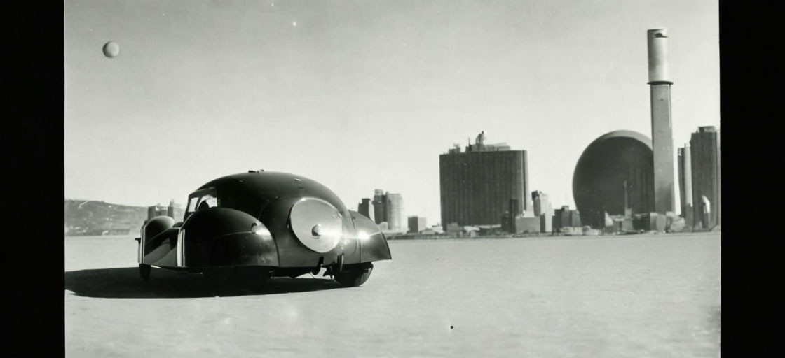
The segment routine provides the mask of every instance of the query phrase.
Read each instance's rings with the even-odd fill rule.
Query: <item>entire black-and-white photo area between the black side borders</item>
[[[64,2],[65,353],[720,355],[717,2]]]

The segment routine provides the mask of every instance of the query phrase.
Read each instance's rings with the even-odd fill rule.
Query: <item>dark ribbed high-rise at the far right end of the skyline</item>
[[[695,223],[703,228],[720,225],[720,132],[699,127],[689,141],[692,162],[692,203]]]

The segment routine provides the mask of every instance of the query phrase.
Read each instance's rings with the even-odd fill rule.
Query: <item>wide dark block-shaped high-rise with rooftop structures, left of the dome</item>
[[[484,133],[466,152],[451,150],[439,156],[441,222],[459,226],[497,225],[509,199],[519,206],[512,217],[531,210],[528,198],[526,150],[485,144]],[[446,230],[446,229],[445,229]]]

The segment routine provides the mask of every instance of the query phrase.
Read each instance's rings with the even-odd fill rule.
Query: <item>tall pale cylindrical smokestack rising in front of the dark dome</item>
[[[654,151],[654,210],[675,212],[674,139],[670,121],[670,81],[668,74],[668,31],[646,32],[648,40],[648,85],[652,91],[652,149]]]

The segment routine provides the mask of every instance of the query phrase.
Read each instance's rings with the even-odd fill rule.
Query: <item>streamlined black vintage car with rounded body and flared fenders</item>
[[[312,179],[283,172],[227,175],[188,196],[182,222],[148,219],[141,228],[141,277],[151,267],[223,277],[227,272],[271,277],[330,275],[360,286],[374,261],[392,259],[385,236],[371,219],[346,209]]]

